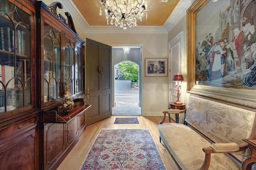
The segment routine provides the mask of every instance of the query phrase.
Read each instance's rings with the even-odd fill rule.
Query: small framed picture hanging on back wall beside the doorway
[[[145,59],[146,77],[166,77],[167,59]]]

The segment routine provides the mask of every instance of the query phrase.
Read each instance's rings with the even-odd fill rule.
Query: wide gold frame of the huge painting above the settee
[[[225,84],[220,84],[220,86],[202,85],[196,78],[196,47],[198,46],[198,42],[196,42],[196,33],[198,33],[197,31],[200,31],[200,30],[196,30],[198,28],[196,25],[197,23],[196,18],[199,12],[200,12],[200,15],[202,15],[202,11],[205,10],[204,8],[210,1],[212,0],[195,0],[195,2],[187,10],[187,92],[191,94],[197,94],[200,96],[212,98],[214,100],[220,100],[224,102],[229,102],[231,104],[251,107],[255,109],[256,108],[256,90],[255,90],[256,87],[230,88],[225,86]],[[218,6],[222,6],[223,2],[224,1],[218,1]],[[246,2],[247,4],[241,4],[244,2]],[[231,5],[228,7],[228,12],[232,13],[232,10],[235,9],[234,8],[235,3],[240,7],[238,8],[240,9],[240,11],[238,11],[238,18],[236,19],[238,20],[237,22],[235,22],[235,20],[233,20],[234,18],[232,18],[232,23],[227,23],[227,25],[229,24],[228,27],[230,29],[227,43],[230,43],[233,39],[234,27],[239,27],[240,29],[242,29],[242,25],[243,25],[242,18],[244,17],[246,12],[246,10],[244,10],[243,8],[245,8],[246,5],[248,6],[248,3],[250,3],[249,4],[250,9],[254,10],[254,14],[253,14],[254,19],[249,19],[249,20],[252,20],[250,22],[252,24],[254,22],[254,25],[256,25],[256,19],[255,19],[256,4],[254,0],[246,0],[244,2],[240,0],[230,0]],[[222,17],[222,14],[220,14],[220,12],[223,12],[223,11],[220,11],[220,10],[208,11],[204,15],[204,18],[205,20],[211,20],[210,17],[212,16]],[[224,14],[225,12],[223,12],[223,15]],[[227,20],[227,22],[229,21],[230,20]],[[246,22],[248,22],[248,20]],[[220,24],[220,23],[217,23],[217,24]],[[219,37],[219,39],[221,38],[222,37]],[[237,83],[240,83],[240,82],[237,81]]]

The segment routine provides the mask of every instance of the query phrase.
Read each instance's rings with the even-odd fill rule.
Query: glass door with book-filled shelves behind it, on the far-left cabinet
[[[0,1],[0,113],[32,105],[31,16]]]

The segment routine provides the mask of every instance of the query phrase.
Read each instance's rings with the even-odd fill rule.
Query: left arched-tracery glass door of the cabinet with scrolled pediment
[[[61,97],[60,32],[44,23],[44,102]]]

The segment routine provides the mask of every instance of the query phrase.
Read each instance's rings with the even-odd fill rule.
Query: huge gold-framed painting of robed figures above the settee
[[[195,0],[187,10],[187,91],[256,108],[255,25],[255,0]]]

